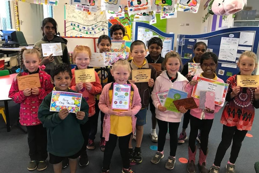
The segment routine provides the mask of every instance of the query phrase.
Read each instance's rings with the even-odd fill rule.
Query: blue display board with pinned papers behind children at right
[[[196,42],[207,42],[207,51],[210,50],[219,56],[216,74],[226,81],[230,76],[239,73],[236,63],[242,52],[248,50],[257,54],[258,40],[258,26],[234,27],[199,35],[178,34],[176,51],[181,55],[182,62],[186,63],[194,56],[193,48]],[[226,48],[223,48],[224,46]],[[233,54],[231,51],[236,53]]]

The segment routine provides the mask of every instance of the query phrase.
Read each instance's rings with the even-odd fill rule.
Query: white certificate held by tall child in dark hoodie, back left
[[[61,43],[43,43],[41,44],[42,54],[44,57],[53,54],[52,56],[62,56],[62,46]]]

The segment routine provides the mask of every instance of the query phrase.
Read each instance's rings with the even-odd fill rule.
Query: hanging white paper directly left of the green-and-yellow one
[[[150,0],[128,0],[128,13],[137,14],[139,12],[148,12],[151,10],[151,1]]]

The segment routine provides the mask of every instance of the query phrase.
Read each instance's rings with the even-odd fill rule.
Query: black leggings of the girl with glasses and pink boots
[[[200,148],[203,153],[207,153],[209,132],[212,127],[213,119],[198,119],[194,116],[190,116],[190,136],[189,136],[189,147],[194,153],[195,141],[200,128]]]

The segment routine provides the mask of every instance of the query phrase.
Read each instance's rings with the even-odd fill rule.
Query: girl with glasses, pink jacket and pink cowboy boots
[[[223,82],[222,79],[219,79],[215,73],[215,70],[218,65],[218,57],[216,54],[212,52],[206,52],[200,57],[200,66],[203,70],[199,76],[212,79],[215,81]],[[193,79],[187,84],[186,92],[188,93],[188,97],[191,97],[193,87],[197,84],[197,76],[194,76]],[[204,88],[206,90],[206,88]],[[194,98],[197,106],[200,105],[200,100]],[[201,173],[207,173],[208,170],[206,168],[206,157],[208,154],[208,140],[209,140],[209,132],[212,127],[212,122],[214,119],[215,113],[217,113],[221,109],[221,106],[215,105],[215,109],[211,110],[210,108],[206,109],[191,109],[190,110],[190,136],[189,136],[189,147],[188,147],[188,156],[189,160],[187,163],[187,171],[189,173],[195,173],[195,155],[197,146],[195,145],[196,137],[198,134],[198,130],[200,128],[200,154],[199,154],[199,162],[198,168]]]

